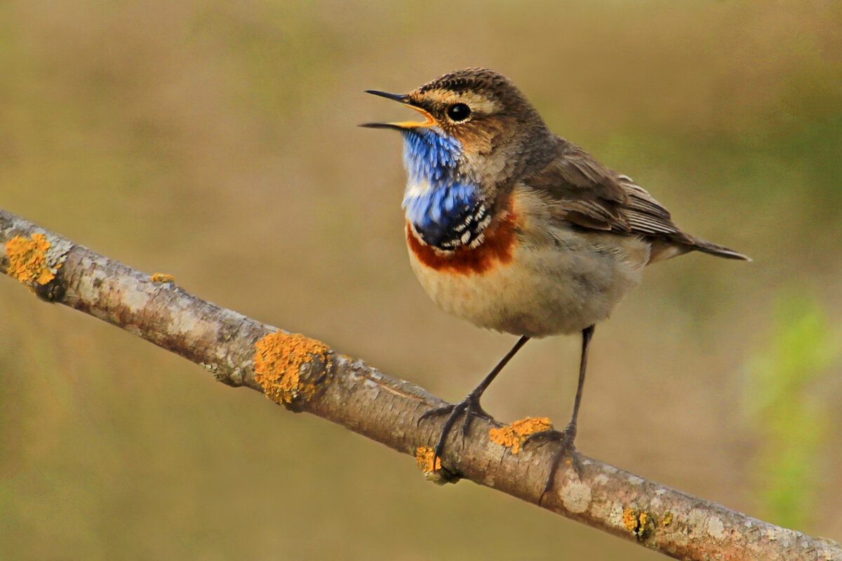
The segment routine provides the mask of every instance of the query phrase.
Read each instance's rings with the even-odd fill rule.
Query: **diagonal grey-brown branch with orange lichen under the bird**
[[[541,420],[472,422],[433,470],[430,449],[444,405],[321,341],[289,334],[188,294],[166,275],[141,273],[0,209],[0,272],[65,304],[200,364],[223,384],[244,386],[418,458],[429,479],[471,479],[539,504],[552,447],[520,443]],[[530,428],[531,426],[531,428]],[[546,449],[545,449],[546,448]],[[582,457],[581,479],[559,470],[541,507],[679,559],[842,561],[839,544],[731,511],[722,505]],[[458,474],[458,475],[457,475]]]

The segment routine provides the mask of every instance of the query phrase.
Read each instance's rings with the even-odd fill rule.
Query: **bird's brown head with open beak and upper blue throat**
[[[407,171],[468,177],[491,195],[520,176],[552,134],[509,78],[485,68],[466,68],[409,93],[367,90],[418,111],[421,121],[368,123],[400,130]],[[443,171],[445,170],[445,171]]]

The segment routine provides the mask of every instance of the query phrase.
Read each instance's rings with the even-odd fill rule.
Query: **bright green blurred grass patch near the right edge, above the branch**
[[[781,297],[775,324],[748,364],[747,414],[759,434],[755,488],[765,520],[814,522],[832,433],[828,389],[839,378],[842,331],[815,297]]]

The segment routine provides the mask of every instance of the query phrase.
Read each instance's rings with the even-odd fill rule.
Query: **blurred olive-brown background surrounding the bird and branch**
[[[842,538],[842,4],[5,0],[0,207],[447,399],[513,343],[408,267],[397,135],[463,66],[698,236],[596,331],[588,455]],[[568,419],[578,339],[530,343],[501,421]],[[0,557],[658,558],[0,282]]]

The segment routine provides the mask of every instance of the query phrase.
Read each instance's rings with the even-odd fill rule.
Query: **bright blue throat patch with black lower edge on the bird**
[[[452,250],[471,243],[482,231],[477,226],[485,207],[475,184],[459,172],[461,143],[436,127],[405,129],[402,134],[408,183],[429,185],[404,193],[407,220],[430,246]]]

